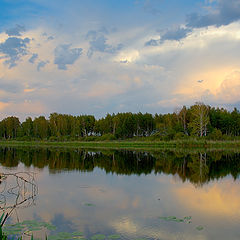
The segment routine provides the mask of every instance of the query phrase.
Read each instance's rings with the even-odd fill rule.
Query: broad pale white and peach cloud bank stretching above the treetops
[[[234,23],[195,29],[181,43],[165,41],[156,47],[144,46],[153,36],[152,30],[146,34],[146,28],[138,28],[126,35],[121,30],[109,31],[107,44],[123,43],[124,47],[111,54],[97,51],[90,59],[85,31],[70,41],[71,36],[60,38],[51,29],[32,29],[21,37],[34,40],[28,43],[27,55],[21,55],[17,66],[8,69],[0,64],[4,86],[19,85],[21,91],[2,92],[0,101],[39,102],[44,106],[43,114],[57,111],[97,116],[117,111],[173,111],[199,100],[216,104],[221,99],[222,104],[226,99],[226,104],[234,103],[237,93],[231,92],[231,86],[238,89],[238,80],[235,77],[230,81],[227,76],[240,70],[239,26]],[[46,41],[43,32],[54,35],[54,39]],[[7,38],[0,36],[2,42]],[[33,56],[38,57],[31,63]],[[37,66],[42,71],[37,71]],[[61,71],[63,68],[65,71]]]

